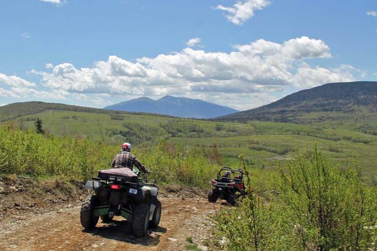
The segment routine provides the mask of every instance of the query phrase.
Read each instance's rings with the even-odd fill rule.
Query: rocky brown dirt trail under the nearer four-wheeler
[[[141,239],[132,236],[130,224],[121,217],[110,224],[100,220],[96,229],[85,231],[80,224],[80,207],[74,206],[0,221],[0,250],[177,251],[185,250],[188,236],[205,239],[211,235],[203,221],[213,213],[214,205],[205,198],[162,197],[161,201],[160,227]]]

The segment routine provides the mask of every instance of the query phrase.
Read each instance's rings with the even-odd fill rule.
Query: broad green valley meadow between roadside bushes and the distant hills
[[[371,182],[372,176],[377,174],[377,136],[358,132],[355,124],[350,122],[342,125],[341,121],[313,122],[313,125],[259,121],[237,123],[147,114],[50,110],[5,123],[33,130],[37,117],[42,119],[48,133],[58,136],[104,140],[108,145],[130,141],[138,148],[167,140],[178,145],[179,151],[196,147],[208,149],[208,154],[215,145],[223,156],[222,161],[216,158],[219,165],[237,166],[238,155],[243,153],[246,164],[255,168],[263,166],[266,170],[275,170],[277,160],[292,159],[296,149],[309,149],[313,141],[317,141],[323,152],[341,165],[353,155],[358,157],[364,181]]]

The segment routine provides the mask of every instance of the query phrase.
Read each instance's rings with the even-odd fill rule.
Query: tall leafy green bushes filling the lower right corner
[[[215,217],[227,250],[376,249],[376,199],[359,180],[355,162],[339,167],[315,145],[279,171],[271,179],[275,185],[264,182],[269,187],[247,175],[240,207]]]

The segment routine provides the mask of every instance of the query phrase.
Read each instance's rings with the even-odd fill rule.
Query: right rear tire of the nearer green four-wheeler
[[[149,224],[150,206],[147,203],[140,203],[136,205],[134,215],[132,217],[132,230],[137,238],[147,235]]]

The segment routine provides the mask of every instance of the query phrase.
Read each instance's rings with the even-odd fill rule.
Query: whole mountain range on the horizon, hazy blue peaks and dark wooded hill
[[[45,102],[13,103],[0,107],[0,121],[48,110],[94,113],[158,113],[217,121],[272,121],[302,124],[348,123],[358,131],[377,130],[377,82],[323,84],[290,94],[259,108],[239,112],[198,99],[164,96],[159,100],[141,97],[105,109]]]

